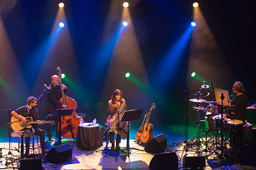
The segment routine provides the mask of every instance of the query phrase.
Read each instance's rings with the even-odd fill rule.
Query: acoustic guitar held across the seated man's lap
[[[21,116],[21,115],[19,115]],[[22,118],[27,120],[27,124],[24,124],[20,119],[17,119],[16,117],[12,116],[11,118],[11,123],[12,123],[12,129],[13,130],[22,130],[24,128],[31,128],[31,124],[39,124],[40,121],[33,121],[33,118],[28,116],[24,117],[21,116]],[[44,123],[50,123],[50,124],[55,124],[55,121],[43,121]]]

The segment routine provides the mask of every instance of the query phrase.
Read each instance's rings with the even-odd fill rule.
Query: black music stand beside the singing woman
[[[130,140],[130,121],[135,121],[140,119],[144,109],[135,109],[135,110],[126,110],[124,111],[123,117],[121,121],[128,121],[128,130],[127,130],[127,137],[126,137],[126,149],[137,149],[137,148],[130,148],[129,140]],[[141,149],[137,149],[139,151],[143,151]]]

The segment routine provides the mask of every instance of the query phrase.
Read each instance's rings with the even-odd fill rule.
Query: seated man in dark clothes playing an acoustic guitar
[[[12,123],[12,128],[14,130],[30,130],[31,132],[35,130],[35,135],[40,136],[40,144],[41,144],[41,149],[42,149],[42,154],[47,154],[47,151],[45,151],[45,135],[42,129],[38,128],[37,124],[44,124],[44,121],[39,121],[38,117],[38,109],[36,108],[37,105],[37,98],[30,96],[27,99],[27,105],[26,106],[21,106],[18,109],[12,111],[12,120],[17,119],[18,121],[11,121]],[[25,119],[26,117],[30,116],[33,120],[36,120],[36,123],[31,124],[32,127],[30,126],[30,122],[28,119]],[[17,123],[18,122],[18,123]],[[21,128],[19,129],[16,127],[16,125],[21,125]],[[25,128],[22,128],[25,127]],[[18,128],[18,129],[17,129]],[[29,154],[29,144],[30,144],[30,137],[26,137],[26,152],[25,155]]]

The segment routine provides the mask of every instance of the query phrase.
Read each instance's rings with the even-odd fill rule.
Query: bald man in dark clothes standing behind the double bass
[[[67,88],[64,84],[62,84],[64,93],[66,93]],[[62,92],[61,88],[59,86],[59,76],[53,75],[52,76],[52,83],[49,86],[50,90],[47,91],[47,105],[46,105],[46,111],[48,113],[49,120],[52,119],[52,114],[55,112],[57,105],[66,109],[67,105],[59,102],[59,99],[62,98]],[[47,136],[50,142],[54,141],[52,139],[52,133],[51,133],[51,125],[47,124],[46,128]],[[56,135],[55,137],[59,136],[59,131],[57,131],[57,123],[56,123]]]

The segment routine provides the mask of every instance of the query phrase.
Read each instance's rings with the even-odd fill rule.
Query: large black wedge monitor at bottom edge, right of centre
[[[149,163],[151,170],[178,170],[178,156],[175,152],[155,155]]]

